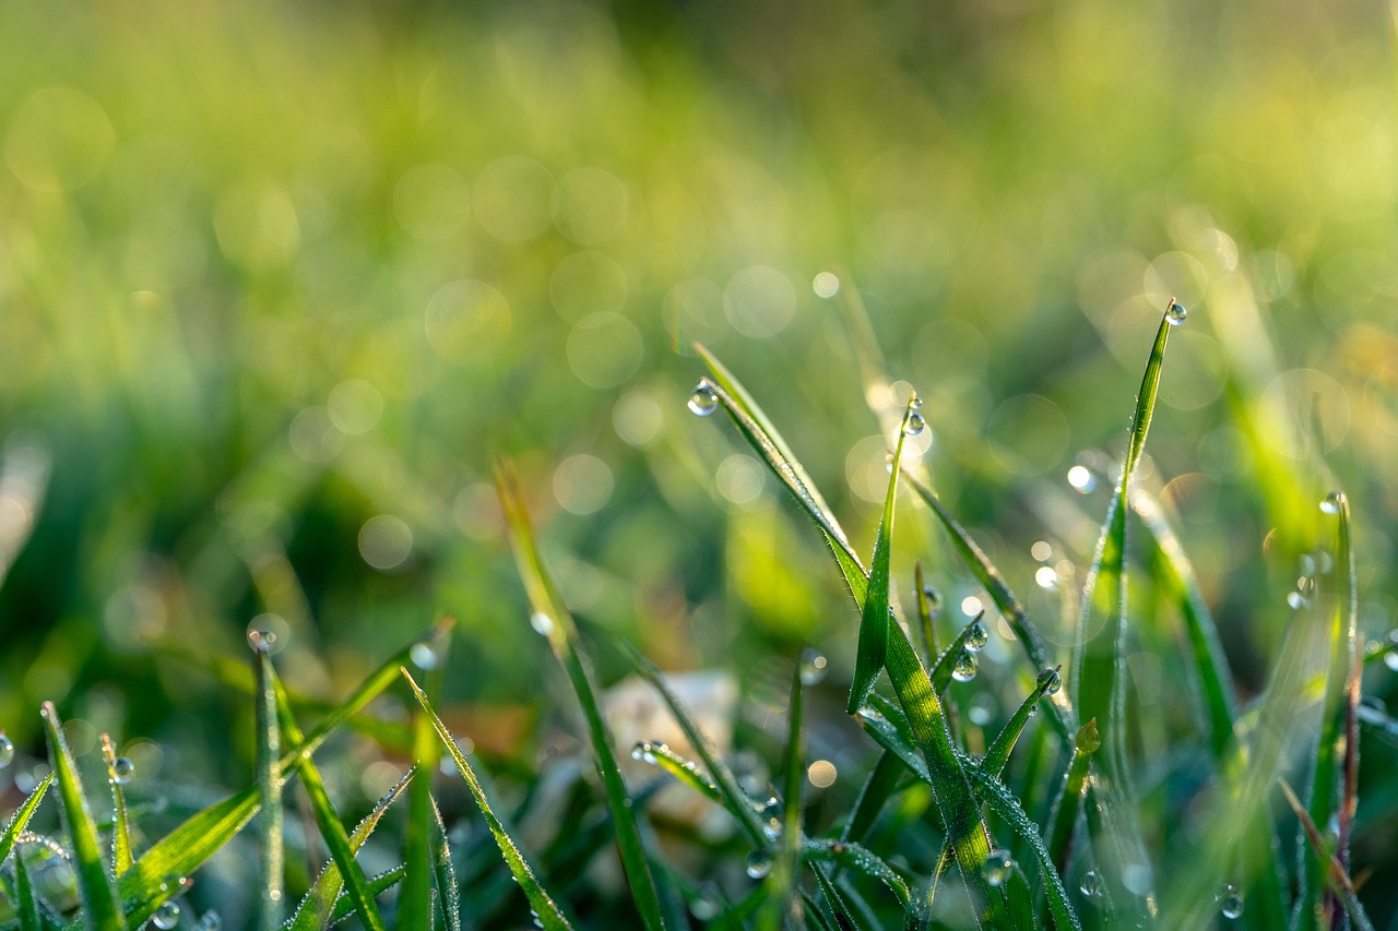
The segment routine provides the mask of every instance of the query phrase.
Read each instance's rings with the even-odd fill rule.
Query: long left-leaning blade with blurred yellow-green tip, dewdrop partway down
[[[524,506],[524,495],[507,464],[499,463],[496,466],[495,484],[500,495],[506,524],[510,528],[514,563],[524,580],[530,607],[535,614],[542,614],[552,621],[548,643],[554,656],[566,670],[573,692],[577,695],[577,703],[583,707],[583,717],[587,720],[587,730],[593,738],[593,752],[597,755],[597,769],[607,791],[607,805],[617,828],[617,850],[621,854],[622,867],[626,869],[626,879],[630,882],[636,910],[646,928],[663,928],[665,918],[660,904],[660,892],[650,874],[650,863],[646,860],[640,830],[636,826],[636,811],[626,791],[626,781],[617,766],[617,751],[597,702],[597,688],[579,644],[577,628],[568,612],[568,605],[563,604],[558,586],[544,565],[544,556],[540,554],[534,528]]]

